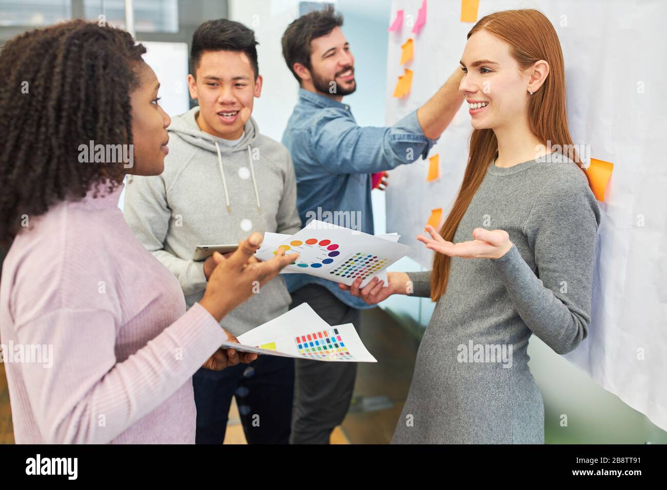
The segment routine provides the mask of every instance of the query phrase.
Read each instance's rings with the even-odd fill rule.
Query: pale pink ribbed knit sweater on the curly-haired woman
[[[17,443],[195,441],[191,376],[227,336],[199,303],[185,313],[177,279],[125,224],[121,190],[29,217],[7,253],[0,342],[13,347]]]

